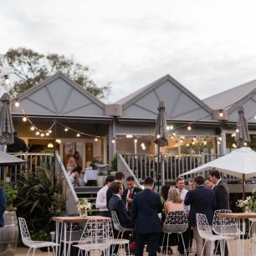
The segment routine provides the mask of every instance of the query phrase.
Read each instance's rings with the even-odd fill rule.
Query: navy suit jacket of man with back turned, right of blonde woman
[[[188,221],[192,227],[197,226],[197,213],[205,214],[209,225],[212,225],[215,207],[214,191],[212,189],[198,186],[196,189],[187,192],[184,203],[186,205],[190,204]]]

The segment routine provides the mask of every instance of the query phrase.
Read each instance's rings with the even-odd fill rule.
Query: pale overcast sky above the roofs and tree
[[[256,2],[0,2],[0,53],[65,54],[112,83],[114,102],[171,74],[203,99],[256,79]]]

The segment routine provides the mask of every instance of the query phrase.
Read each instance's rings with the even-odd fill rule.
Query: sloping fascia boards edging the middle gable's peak
[[[202,100],[197,98],[196,95],[192,94],[191,91],[187,90],[182,84],[180,84],[176,79],[172,78],[170,74],[166,74],[161,79],[157,79],[155,82],[148,84],[145,86],[145,90],[142,90],[139,95],[136,95],[131,100],[128,100],[123,105],[123,110],[125,110],[128,106],[132,105],[136,100],[140,100],[144,95],[146,95],[149,91],[154,90],[156,87],[158,87],[160,84],[166,82],[167,80],[170,80],[172,84],[175,84],[180,90],[182,90],[186,95],[192,98],[192,100],[195,100],[199,105],[202,106],[203,109],[207,110],[209,114],[212,114],[212,109],[206,105]]]

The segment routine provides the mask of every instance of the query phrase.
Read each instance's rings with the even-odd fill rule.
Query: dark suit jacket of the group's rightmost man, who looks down
[[[228,187],[222,180],[213,188],[215,192],[215,210],[229,209]]]

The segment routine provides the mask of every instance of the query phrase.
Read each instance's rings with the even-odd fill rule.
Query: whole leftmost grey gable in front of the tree
[[[79,84],[58,72],[19,95],[19,102],[28,115],[99,116],[105,105]],[[20,114],[13,108],[13,114]]]

